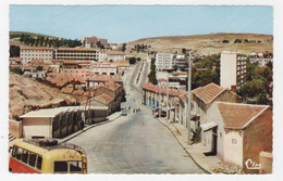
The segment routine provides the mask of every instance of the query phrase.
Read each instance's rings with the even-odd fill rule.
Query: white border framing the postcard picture
[[[282,109],[283,109],[283,87],[281,79],[283,78],[283,29],[282,29],[282,17],[283,17],[283,5],[281,0],[145,0],[145,1],[132,1],[132,0],[4,0],[0,2],[0,56],[1,56],[1,104],[0,104],[0,176],[2,180],[53,180],[60,179],[62,181],[71,180],[250,180],[250,181],[266,181],[266,180],[279,180],[281,177],[282,164]],[[273,36],[274,36],[274,111],[273,111],[273,173],[272,174],[87,174],[87,176],[54,176],[54,174],[11,174],[8,172],[8,113],[9,113],[9,74],[8,74],[8,57],[9,57],[9,4],[84,4],[84,5],[98,5],[98,4],[140,4],[140,5],[271,5],[273,7]]]

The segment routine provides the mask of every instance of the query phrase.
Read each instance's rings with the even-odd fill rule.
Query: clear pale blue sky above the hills
[[[10,30],[122,43],[140,38],[251,33],[273,35],[272,7],[10,5]]]

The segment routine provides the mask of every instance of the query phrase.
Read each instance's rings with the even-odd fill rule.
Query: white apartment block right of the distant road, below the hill
[[[156,54],[156,69],[172,69],[173,68],[173,54],[171,53],[157,53]]]

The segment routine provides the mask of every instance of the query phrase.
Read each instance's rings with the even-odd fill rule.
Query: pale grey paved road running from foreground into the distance
[[[142,111],[94,127],[70,141],[86,150],[88,172],[204,173],[172,133],[152,118],[151,111],[138,105],[136,99],[140,98],[140,91],[132,81],[135,69],[132,67],[123,77],[131,81],[124,83],[130,95],[122,106],[139,106]]]

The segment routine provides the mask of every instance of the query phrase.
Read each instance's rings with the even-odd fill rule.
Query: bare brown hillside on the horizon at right
[[[242,43],[234,43],[235,39],[241,39]],[[256,42],[244,42],[254,40]],[[227,40],[229,42],[223,42]],[[260,41],[260,42],[258,42]],[[174,53],[181,52],[183,48],[196,50],[199,54],[220,53],[223,50],[237,50],[248,54],[251,51],[272,51],[273,36],[258,34],[209,34],[195,36],[170,36],[143,38],[127,42],[127,51],[135,44],[151,46],[150,51]]]

